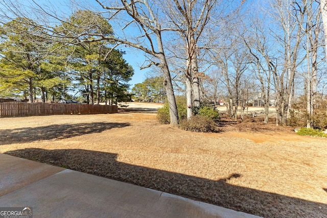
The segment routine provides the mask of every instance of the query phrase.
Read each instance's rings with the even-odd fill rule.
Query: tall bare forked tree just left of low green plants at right
[[[274,71],[274,87],[276,90],[276,107],[278,123],[285,126],[288,111],[291,108],[292,93],[294,90],[294,77],[296,68],[304,60],[299,57],[300,43],[303,39],[301,25],[305,16],[305,8],[301,3],[285,0],[274,0],[271,2],[272,18],[276,21],[274,37],[281,46],[281,57],[283,65],[280,70]],[[276,50],[279,50],[276,47]],[[278,71],[281,73],[278,74]]]

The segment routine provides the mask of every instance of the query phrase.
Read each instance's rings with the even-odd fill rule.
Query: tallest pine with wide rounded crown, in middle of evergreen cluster
[[[62,21],[55,28],[56,36],[64,35],[69,41],[68,48],[71,51],[71,66],[75,69],[81,85],[85,88],[87,102],[94,104],[96,75],[99,75],[99,62],[101,47],[108,46],[108,42],[101,37],[112,36],[112,28],[106,19],[89,10],[79,10],[73,13],[66,21]],[[73,45],[72,45],[73,44]],[[99,95],[99,91],[97,91]],[[100,98],[100,96],[99,96]],[[97,96],[98,99],[98,96]],[[97,101],[99,103],[99,99]]]

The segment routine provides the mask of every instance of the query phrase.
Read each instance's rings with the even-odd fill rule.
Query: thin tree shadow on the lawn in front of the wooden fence
[[[124,128],[127,126],[130,126],[130,124],[97,122],[0,130],[0,145],[71,138],[85,134],[100,133],[112,128]]]

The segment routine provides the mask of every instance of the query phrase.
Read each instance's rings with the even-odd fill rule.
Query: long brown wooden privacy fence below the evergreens
[[[0,103],[0,117],[8,116],[40,116],[51,114],[98,114],[116,113],[117,106],[111,105],[87,105],[87,104],[64,104],[64,103],[24,103],[5,102]]]

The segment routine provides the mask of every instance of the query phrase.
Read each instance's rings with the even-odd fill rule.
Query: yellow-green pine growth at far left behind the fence
[[[48,52],[51,42],[42,38],[44,33],[35,22],[26,18],[6,23],[1,32],[0,93],[6,96],[14,93],[28,95],[31,103],[33,92],[37,91],[44,102],[46,90],[62,82],[60,75],[53,70],[58,63],[51,64],[54,57]]]

